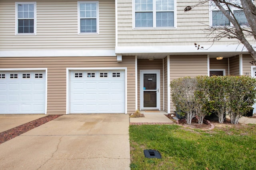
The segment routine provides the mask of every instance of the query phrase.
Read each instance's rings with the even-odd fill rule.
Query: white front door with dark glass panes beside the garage
[[[158,110],[160,103],[160,71],[140,71],[140,109]]]

